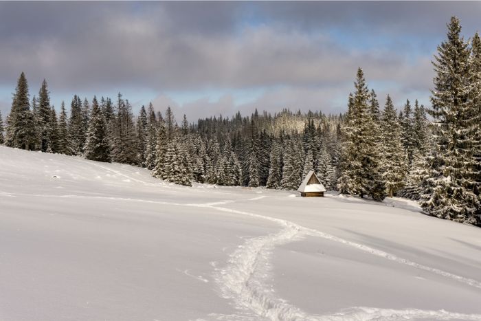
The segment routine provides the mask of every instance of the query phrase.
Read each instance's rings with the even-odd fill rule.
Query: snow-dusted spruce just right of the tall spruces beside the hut
[[[401,124],[391,97],[385,100],[382,114],[383,129],[383,178],[389,197],[393,197],[403,187],[407,172],[407,152],[401,143]]]

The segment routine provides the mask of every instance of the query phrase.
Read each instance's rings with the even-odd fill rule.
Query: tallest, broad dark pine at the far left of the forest
[[[12,100],[12,110],[8,116],[5,145],[34,151],[38,144],[34,116],[30,111],[28,84],[22,72]]]

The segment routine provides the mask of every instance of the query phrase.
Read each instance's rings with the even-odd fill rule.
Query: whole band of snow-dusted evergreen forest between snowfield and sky
[[[481,225],[481,41],[476,34],[465,42],[456,18],[448,27],[427,110],[407,100],[397,113],[390,96],[381,109],[359,68],[346,114],[285,109],[197,123],[184,115],[179,126],[170,107],[162,114],[142,106],[134,117],[119,93],[115,102],[74,96],[67,118],[65,104],[59,117],[50,106],[45,80],[30,102],[22,73],[0,142],[142,166],[186,186],[295,190],[315,170],[328,190],[378,201],[410,197],[436,217]]]

